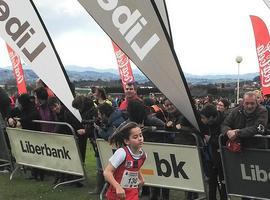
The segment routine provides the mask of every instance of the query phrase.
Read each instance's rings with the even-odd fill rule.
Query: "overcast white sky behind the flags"
[[[117,68],[108,36],[77,0],[34,0],[64,65]],[[176,53],[184,72],[258,72],[249,15],[270,25],[263,0],[166,0]],[[0,67],[10,64],[1,41]]]

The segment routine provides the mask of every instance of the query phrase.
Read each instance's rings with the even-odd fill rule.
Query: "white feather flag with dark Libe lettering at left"
[[[79,119],[63,64],[32,0],[0,0],[0,36]]]

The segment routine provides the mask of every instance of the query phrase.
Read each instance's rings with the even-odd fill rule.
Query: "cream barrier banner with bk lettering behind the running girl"
[[[97,139],[97,146],[104,168],[115,149],[102,139]],[[141,172],[146,185],[205,192],[196,146],[145,142],[143,149],[147,159]]]

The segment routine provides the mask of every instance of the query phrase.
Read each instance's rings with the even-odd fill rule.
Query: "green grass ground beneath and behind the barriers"
[[[89,145],[90,146],[90,145]],[[87,147],[86,173],[87,181],[84,187],[60,186],[53,189],[54,177],[48,176],[44,181],[27,180],[29,174],[18,171],[13,179],[9,180],[9,174],[0,174],[0,200],[94,200],[96,195],[89,195],[89,191],[95,188],[95,158],[93,151]],[[147,198],[143,198],[146,200]],[[171,200],[184,199],[184,192],[170,191]]]

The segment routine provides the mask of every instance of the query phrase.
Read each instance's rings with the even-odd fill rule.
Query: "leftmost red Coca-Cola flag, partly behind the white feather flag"
[[[23,73],[22,63],[20,57],[16,54],[13,49],[7,45],[8,55],[10,57],[13,69],[13,75],[16,79],[18,94],[27,93],[25,77]]]

